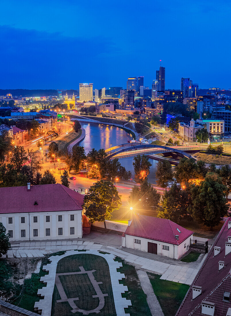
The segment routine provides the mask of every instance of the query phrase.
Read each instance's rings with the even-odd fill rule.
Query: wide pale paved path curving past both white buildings
[[[41,241],[41,242],[20,242],[12,244],[12,249],[7,253],[8,258],[24,258],[24,257],[44,257],[44,254],[49,254],[58,251],[67,250],[101,250],[111,253],[115,256],[123,258],[131,264],[135,264],[139,269],[148,270],[153,273],[161,274],[162,280],[185,283],[191,285],[193,279],[198,273],[199,267],[193,269],[187,264],[168,264],[149,258],[144,258],[126,251],[126,248],[117,248],[113,246],[105,246],[92,241],[84,240],[58,240],[58,241]],[[124,249],[124,250],[122,250]],[[144,253],[145,254],[145,253]],[[3,256],[5,257],[5,256]],[[163,257],[163,260],[167,257]],[[161,260],[161,258],[160,258]],[[166,261],[166,260],[164,260]],[[170,261],[173,262],[172,260]]]

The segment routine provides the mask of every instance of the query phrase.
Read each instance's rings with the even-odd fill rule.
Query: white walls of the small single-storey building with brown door
[[[148,252],[148,242],[155,243],[157,244],[158,255],[166,256],[173,259],[179,259],[189,249],[190,238],[192,239],[192,235],[185,239],[181,244],[173,245],[162,241],[156,241],[125,234],[125,237],[122,237],[122,247]]]

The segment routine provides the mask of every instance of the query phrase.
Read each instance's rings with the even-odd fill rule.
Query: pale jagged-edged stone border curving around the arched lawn
[[[117,269],[123,266],[122,263],[113,260],[116,257],[115,255],[102,254],[102,253],[99,253],[97,250],[87,250],[84,252],[69,250],[69,251],[66,251],[61,256],[51,256],[50,258],[48,258],[48,260],[50,260],[51,263],[44,265],[43,270],[46,270],[46,272],[49,272],[49,273],[45,276],[41,276],[40,278],[40,282],[46,283],[46,287],[43,287],[42,289],[38,289],[38,295],[41,295],[42,297],[44,297],[44,299],[41,299],[39,302],[35,302],[34,304],[34,308],[38,311],[42,311],[42,315],[44,316],[51,315],[52,295],[54,291],[56,268],[57,268],[58,261],[64,257],[68,257],[71,255],[88,254],[88,253],[94,254],[106,259],[109,266],[109,271],[110,271],[116,314],[118,316],[130,315],[130,314],[125,314],[124,308],[131,306],[131,301],[127,300],[121,295],[121,293],[125,293],[125,291],[128,291],[128,288],[127,286],[124,286],[123,284],[119,284],[119,280],[122,280],[122,278],[124,279],[125,275],[123,273],[117,272]]]

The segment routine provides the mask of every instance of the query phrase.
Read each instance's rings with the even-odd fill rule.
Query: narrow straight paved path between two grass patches
[[[164,316],[161,306],[153,291],[147,272],[143,270],[137,270],[137,275],[140,279],[142,289],[144,293],[147,295],[147,302],[152,316]]]

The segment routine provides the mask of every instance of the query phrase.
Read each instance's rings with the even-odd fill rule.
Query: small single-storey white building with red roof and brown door
[[[179,259],[189,249],[192,235],[168,219],[133,214],[122,235],[122,247]]]

